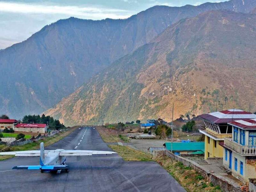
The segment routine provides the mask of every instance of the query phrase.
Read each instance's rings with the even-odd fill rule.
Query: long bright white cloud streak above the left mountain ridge
[[[127,0],[128,1],[128,0]],[[0,2],[0,12],[13,12],[23,14],[63,14],[75,17],[91,19],[124,19],[132,15],[131,12],[122,9],[108,9],[102,7],[78,7],[78,6],[58,6],[58,5],[40,5],[25,3]]]

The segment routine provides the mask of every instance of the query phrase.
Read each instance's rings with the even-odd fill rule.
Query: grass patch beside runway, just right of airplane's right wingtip
[[[109,145],[109,147],[123,157],[125,161],[152,161],[152,155],[137,151],[127,146]]]

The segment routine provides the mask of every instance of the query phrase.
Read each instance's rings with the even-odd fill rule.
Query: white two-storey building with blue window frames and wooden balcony
[[[256,118],[228,122],[231,137],[224,138],[223,166],[244,183],[256,178]]]

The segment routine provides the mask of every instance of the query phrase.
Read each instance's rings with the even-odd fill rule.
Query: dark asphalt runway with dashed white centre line
[[[77,129],[45,149],[56,148],[111,151],[91,127]],[[39,170],[9,171],[16,165],[38,165],[39,157],[0,161],[0,191],[185,191],[156,162],[127,162],[113,154],[71,156],[66,163],[69,173],[52,174]]]

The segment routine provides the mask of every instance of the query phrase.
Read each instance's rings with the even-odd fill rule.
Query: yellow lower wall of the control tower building
[[[212,138],[210,138],[210,144],[208,143],[208,136],[204,137],[204,159],[208,158],[208,152],[210,153],[209,157],[223,157],[223,147],[219,145],[220,141],[216,141],[216,148]]]

